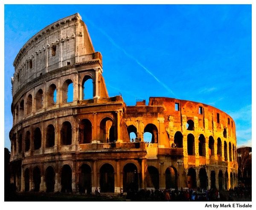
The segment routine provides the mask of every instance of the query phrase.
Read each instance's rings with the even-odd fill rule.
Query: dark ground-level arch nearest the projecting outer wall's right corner
[[[139,187],[138,183],[138,170],[136,165],[128,163],[123,169],[123,190],[124,192],[132,191],[137,192]]]

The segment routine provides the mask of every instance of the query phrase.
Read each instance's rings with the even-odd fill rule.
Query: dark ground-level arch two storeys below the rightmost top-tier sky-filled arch
[[[90,194],[92,189],[91,182],[92,170],[89,165],[83,164],[81,166],[81,173],[79,174],[79,192]]]

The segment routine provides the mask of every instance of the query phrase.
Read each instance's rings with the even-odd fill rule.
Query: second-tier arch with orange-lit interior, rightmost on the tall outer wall
[[[99,125],[100,138],[103,143],[115,142],[116,140],[116,128],[113,120],[109,117],[102,119]]]

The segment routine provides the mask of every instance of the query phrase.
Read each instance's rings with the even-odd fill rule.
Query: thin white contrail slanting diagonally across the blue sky
[[[161,82],[151,71],[148,70],[148,68],[146,68],[143,64],[141,64],[136,58],[134,58],[132,55],[128,54],[128,52],[125,51],[124,48],[120,47],[118,44],[115,43],[115,41],[105,32],[103,31],[101,28],[97,27],[96,25],[94,25],[94,23],[90,20],[88,20],[87,18],[85,18],[87,22],[89,22],[94,28],[98,29],[102,34],[105,35],[105,37],[108,38],[108,40],[114,45],[116,46],[116,48],[120,49],[121,51],[123,51],[123,53],[128,56],[129,58],[131,58],[132,60],[134,60],[140,67],[142,67],[148,74],[150,74],[155,80],[157,80],[157,82],[162,85],[164,88],[166,88],[166,90],[171,93],[172,95],[176,96],[174,94],[174,92],[163,82]]]

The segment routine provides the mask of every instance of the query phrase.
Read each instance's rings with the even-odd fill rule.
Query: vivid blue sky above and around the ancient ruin
[[[110,96],[127,105],[150,96],[215,106],[251,145],[250,5],[5,5],[5,147],[12,128],[12,63],[49,24],[79,12],[103,56]]]

